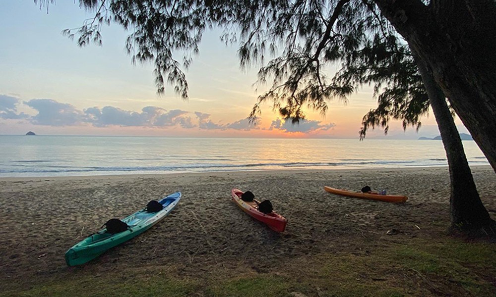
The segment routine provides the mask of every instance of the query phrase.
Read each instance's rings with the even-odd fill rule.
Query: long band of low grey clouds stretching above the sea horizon
[[[30,116],[18,113],[17,105],[20,99],[0,95],[0,119],[25,118],[34,125],[48,126],[77,126],[90,124],[94,127],[182,127],[184,129],[202,130],[238,130],[250,131],[260,129],[260,119],[251,123],[244,118],[232,123],[223,124],[210,119],[210,114],[199,111],[189,112],[181,109],[166,110],[157,106],[146,106],[141,111],[124,110],[115,106],[89,107],[83,110],[67,103],[53,99],[31,99],[24,101],[27,106],[38,113]],[[292,124],[289,120],[277,119],[272,121],[268,130],[278,129],[286,133],[312,133],[329,130],[333,123],[322,124],[320,121],[301,120],[299,124]]]

